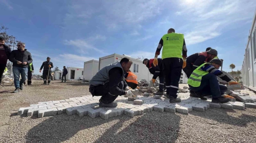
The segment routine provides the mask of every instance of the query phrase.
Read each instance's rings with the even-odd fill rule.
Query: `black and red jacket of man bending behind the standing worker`
[[[153,64],[154,59],[150,59],[149,62],[147,63],[147,68],[150,71],[151,74],[153,74],[152,79],[157,79],[157,77],[163,77],[163,65],[162,65],[162,59],[157,58],[158,61],[158,66],[154,66]]]

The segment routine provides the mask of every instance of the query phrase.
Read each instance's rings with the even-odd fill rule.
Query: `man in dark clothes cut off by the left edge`
[[[11,52],[11,48],[5,45],[5,39],[0,37],[0,84],[2,81],[2,76],[5,72],[7,60],[10,58]]]

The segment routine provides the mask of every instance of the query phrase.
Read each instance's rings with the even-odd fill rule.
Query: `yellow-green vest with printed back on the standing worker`
[[[182,58],[184,34],[181,34],[181,33],[165,34],[162,37],[162,40],[163,40],[162,59],[165,59],[168,57]]]

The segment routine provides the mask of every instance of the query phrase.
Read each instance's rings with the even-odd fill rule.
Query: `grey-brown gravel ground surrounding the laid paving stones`
[[[30,104],[90,95],[89,86],[80,82],[53,81],[51,86],[41,83],[33,81],[33,86],[26,86],[17,94],[11,93],[13,86],[0,88],[1,143],[256,141],[256,109],[250,108],[210,108],[188,115],[152,111],[133,118],[122,115],[108,120],[66,114],[43,118],[18,116],[17,110]]]

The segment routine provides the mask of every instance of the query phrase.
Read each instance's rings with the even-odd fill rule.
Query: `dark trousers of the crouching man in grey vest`
[[[119,95],[109,94],[109,82],[104,85],[95,86],[95,96],[101,96],[100,102],[104,104],[112,103],[116,100]],[[120,81],[118,88],[123,89],[123,81]]]

